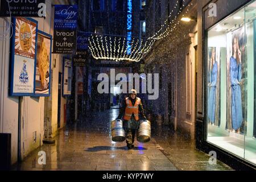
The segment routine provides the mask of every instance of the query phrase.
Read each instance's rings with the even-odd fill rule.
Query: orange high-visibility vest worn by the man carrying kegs
[[[133,105],[131,103],[131,100],[129,100],[128,97],[125,99],[125,101],[126,101],[126,108],[125,108],[125,116],[123,117],[123,119],[129,121],[131,119],[131,115],[134,114],[135,119],[138,121],[139,120],[139,105],[141,104],[141,99],[139,97],[137,97],[135,105]]]

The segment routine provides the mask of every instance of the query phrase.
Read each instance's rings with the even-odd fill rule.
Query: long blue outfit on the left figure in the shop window
[[[209,122],[212,124],[214,124],[215,122],[217,73],[218,73],[218,64],[217,64],[217,61],[215,61],[209,75],[210,88],[209,88],[209,100],[208,100],[208,118],[209,118]]]

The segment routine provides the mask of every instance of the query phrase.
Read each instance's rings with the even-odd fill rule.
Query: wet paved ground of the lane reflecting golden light
[[[118,110],[111,109],[66,126],[55,138],[55,144],[39,147],[13,170],[231,170],[221,162],[210,165],[209,156],[196,150],[191,140],[159,128],[152,128],[150,142],[135,140],[135,147],[128,150],[125,142],[111,139],[110,122],[117,116]],[[39,151],[46,152],[46,165],[38,164]]]

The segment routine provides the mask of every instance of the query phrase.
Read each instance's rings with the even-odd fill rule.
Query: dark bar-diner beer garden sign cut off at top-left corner
[[[46,16],[46,0],[1,0],[0,2],[0,16]]]

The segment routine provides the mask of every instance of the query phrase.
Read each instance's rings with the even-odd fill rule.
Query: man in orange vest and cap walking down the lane
[[[129,97],[123,101],[117,119],[123,118],[123,128],[126,134],[126,143],[129,149],[134,147],[135,133],[139,127],[139,114],[146,120],[141,98],[137,97],[137,91],[132,89]]]

